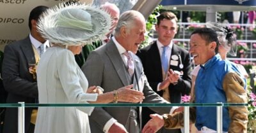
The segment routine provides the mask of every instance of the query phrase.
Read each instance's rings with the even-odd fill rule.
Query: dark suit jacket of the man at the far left
[[[29,63],[35,63],[35,55],[29,37],[6,45],[3,59],[3,83],[8,92],[7,103],[35,103],[38,98],[36,80],[29,73]],[[32,108],[25,108],[25,132],[28,130]],[[7,108],[4,133],[17,133],[17,108]]]

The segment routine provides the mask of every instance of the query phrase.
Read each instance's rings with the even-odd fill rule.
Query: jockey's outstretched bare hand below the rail
[[[163,116],[158,114],[150,115],[151,119],[143,127],[142,133],[155,133],[164,126]]]

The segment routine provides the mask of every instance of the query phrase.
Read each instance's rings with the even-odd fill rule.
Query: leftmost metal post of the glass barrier
[[[18,102],[20,107],[18,107],[18,132],[25,133],[25,102]]]

